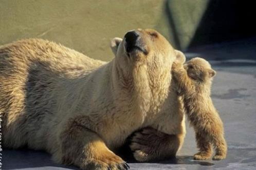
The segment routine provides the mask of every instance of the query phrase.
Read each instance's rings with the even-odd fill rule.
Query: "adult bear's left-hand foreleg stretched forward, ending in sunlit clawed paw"
[[[81,169],[128,169],[129,166],[111,150],[92,130],[77,123],[69,123],[60,135],[60,149],[53,160],[74,164]]]

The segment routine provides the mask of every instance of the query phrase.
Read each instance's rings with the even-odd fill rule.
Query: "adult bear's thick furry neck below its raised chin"
[[[157,114],[168,97],[171,71],[149,74],[147,66],[136,67],[130,74],[124,74],[113,64],[112,87],[114,92],[122,91],[120,100],[127,100],[137,114],[147,117]]]

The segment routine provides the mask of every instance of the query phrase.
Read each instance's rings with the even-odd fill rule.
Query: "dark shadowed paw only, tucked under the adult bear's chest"
[[[139,162],[147,162],[155,159],[158,153],[159,137],[161,134],[153,128],[144,128],[135,133],[130,148],[134,151],[134,158]]]

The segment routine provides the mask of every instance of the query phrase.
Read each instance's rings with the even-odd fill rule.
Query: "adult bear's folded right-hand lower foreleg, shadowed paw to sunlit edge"
[[[185,134],[168,135],[154,128],[147,127],[135,133],[130,148],[139,162],[163,160],[175,157],[182,146]]]

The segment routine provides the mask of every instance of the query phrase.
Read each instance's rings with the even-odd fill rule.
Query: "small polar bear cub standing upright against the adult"
[[[172,73],[188,119],[195,129],[199,152],[194,159],[209,159],[212,155],[211,144],[216,149],[213,160],[225,159],[227,144],[223,123],[210,97],[215,71],[206,60],[194,58],[184,66],[173,63]]]

